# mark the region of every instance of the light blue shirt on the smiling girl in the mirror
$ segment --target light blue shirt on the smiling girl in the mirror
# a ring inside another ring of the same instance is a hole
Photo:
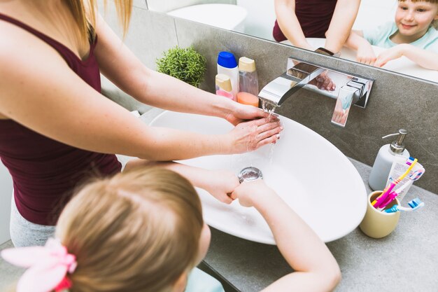
[[[395,22],[390,21],[383,25],[379,25],[379,27],[375,27],[374,29],[365,29],[362,33],[364,39],[369,41],[372,45],[381,48],[392,48],[393,46],[397,46],[397,43],[393,43],[389,38],[397,32],[397,30],[398,28],[397,25],[395,25]],[[438,53],[437,29],[430,26],[428,32],[426,32],[420,39],[412,42],[411,45],[422,48],[423,50],[430,50],[434,53]]]

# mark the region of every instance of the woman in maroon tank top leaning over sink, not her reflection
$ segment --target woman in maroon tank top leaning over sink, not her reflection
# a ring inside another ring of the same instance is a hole
[[[43,245],[77,183],[120,172],[115,153],[180,160],[278,139],[278,120],[254,120],[265,116],[260,109],[146,68],[95,13],[96,2],[0,1],[0,158],[13,178],[15,246]],[[113,3],[126,29],[132,1]],[[148,127],[101,95],[100,73],[145,104],[236,127],[220,137]]]

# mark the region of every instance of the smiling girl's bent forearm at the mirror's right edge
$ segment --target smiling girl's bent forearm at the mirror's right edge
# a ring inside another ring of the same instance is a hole
[[[412,62],[420,65],[425,69],[438,70],[438,54],[430,50],[424,50],[409,43],[401,43],[400,45],[384,50],[374,64],[376,67],[383,67],[390,60],[395,60],[400,57],[407,57]]]

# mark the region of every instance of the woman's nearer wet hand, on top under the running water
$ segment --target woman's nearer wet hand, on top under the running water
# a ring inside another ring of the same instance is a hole
[[[283,130],[278,118],[271,118],[268,122],[265,118],[250,120],[239,123],[227,136],[229,153],[246,153],[254,151],[261,146],[276,143],[280,139],[278,133]]]

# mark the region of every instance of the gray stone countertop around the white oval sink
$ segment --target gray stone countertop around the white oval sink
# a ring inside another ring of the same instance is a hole
[[[161,110],[141,116],[149,123]],[[351,160],[367,187],[371,167]],[[337,292],[438,292],[438,195],[412,186],[404,202],[419,197],[425,207],[404,212],[387,237],[373,239],[359,228],[327,243],[341,267]],[[211,228],[211,245],[205,258],[229,283],[242,292],[260,291],[292,272],[276,246],[250,242]]]

